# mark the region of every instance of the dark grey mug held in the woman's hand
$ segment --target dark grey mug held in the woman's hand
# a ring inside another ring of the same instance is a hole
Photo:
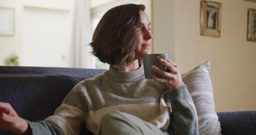
[[[146,79],[152,79],[152,75],[155,75],[158,78],[165,78],[164,76],[156,73],[151,69],[151,66],[156,66],[164,71],[169,72],[170,70],[162,65],[159,60],[157,60],[157,56],[160,56],[164,60],[170,59],[170,54],[145,54],[143,55],[143,65],[144,65],[144,74]]]

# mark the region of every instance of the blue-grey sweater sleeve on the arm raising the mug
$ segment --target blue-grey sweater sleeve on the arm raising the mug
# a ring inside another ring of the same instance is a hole
[[[186,85],[168,94],[172,105],[169,133],[172,135],[199,135],[196,109]]]

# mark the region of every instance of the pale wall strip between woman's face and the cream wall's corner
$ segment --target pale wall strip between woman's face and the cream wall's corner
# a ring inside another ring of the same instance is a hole
[[[173,0],[152,0],[152,52],[170,54],[175,60],[173,9]]]

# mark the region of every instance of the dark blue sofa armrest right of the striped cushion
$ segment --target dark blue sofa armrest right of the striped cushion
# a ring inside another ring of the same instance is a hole
[[[223,135],[254,135],[256,111],[229,111],[217,113]]]

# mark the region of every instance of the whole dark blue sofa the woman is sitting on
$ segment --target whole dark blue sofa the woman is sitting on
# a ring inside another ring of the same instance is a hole
[[[104,70],[61,67],[0,66],[0,102],[18,115],[40,121],[52,115],[76,83]],[[223,135],[256,135],[256,111],[218,112]],[[91,135],[83,126],[81,135]],[[0,135],[11,135],[0,129]]]

